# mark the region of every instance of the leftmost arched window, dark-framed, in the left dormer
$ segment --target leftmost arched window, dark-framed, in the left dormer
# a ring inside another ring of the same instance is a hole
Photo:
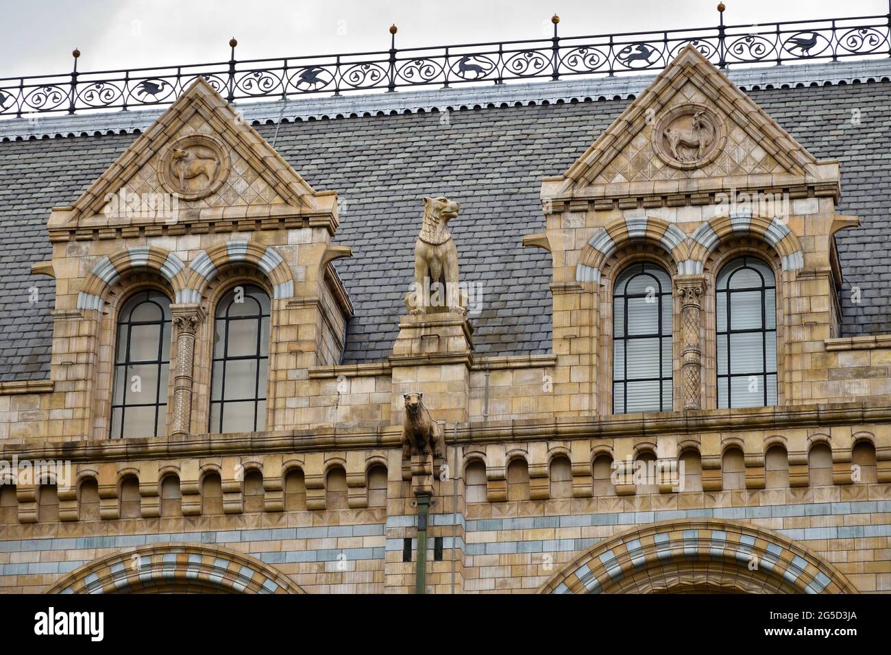
[[[165,433],[169,367],[170,299],[159,291],[140,291],[118,316],[112,438]]]

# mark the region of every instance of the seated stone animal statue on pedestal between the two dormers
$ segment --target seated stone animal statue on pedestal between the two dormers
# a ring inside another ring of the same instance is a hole
[[[448,230],[458,209],[461,205],[442,196],[424,198],[424,220],[414,242],[414,289],[405,296],[405,307],[413,315],[427,312],[429,291],[436,296],[437,284],[445,291],[448,311],[467,313],[467,292],[458,287],[458,249]]]

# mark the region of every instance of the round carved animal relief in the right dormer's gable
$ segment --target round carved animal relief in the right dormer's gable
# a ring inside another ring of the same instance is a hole
[[[704,105],[685,104],[656,122],[653,145],[660,160],[674,168],[699,168],[723,148],[723,122]]]

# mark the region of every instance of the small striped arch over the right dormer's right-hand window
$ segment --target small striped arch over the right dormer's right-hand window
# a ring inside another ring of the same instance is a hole
[[[748,210],[732,211],[699,225],[691,234],[690,273],[702,273],[703,266],[718,243],[736,236],[754,236],[770,244],[782,260],[784,271],[797,271],[805,266],[805,256],[798,237],[779,218],[753,215]]]

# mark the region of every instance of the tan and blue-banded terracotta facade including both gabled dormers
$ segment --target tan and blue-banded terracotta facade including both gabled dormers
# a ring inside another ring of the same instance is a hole
[[[172,214],[116,200],[165,193]],[[523,244],[552,257],[549,354],[479,356],[458,303],[410,306],[388,358],[340,364],[331,262],[358,244],[335,244],[336,193],[199,79],[49,217],[52,374],[2,383],[0,461],[70,469],[0,471],[0,590],[413,593],[429,494],[429,593],[889,592],[891,338],[840,333],[839,194],[837,162],[687,48],[543,181]],[[728,409],[715,287],[743,255],[776,281],[777,394]],[[672,278],[672,410],[614,413],[613,287],[640,262]],[[239,285],[271,301],[264,429],[216,434]],[[166,420],[111,438],[119,313],[145,290],[171,301]],[[405,394],[444,452],[404,450]]]

